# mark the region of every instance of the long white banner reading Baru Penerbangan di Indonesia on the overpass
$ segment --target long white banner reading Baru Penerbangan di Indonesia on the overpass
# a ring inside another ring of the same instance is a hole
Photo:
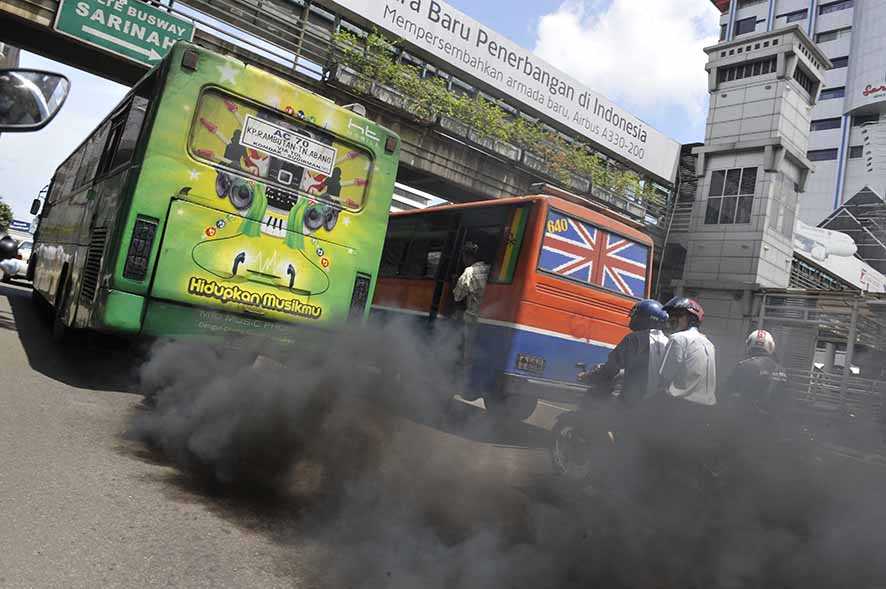
[[[336,0],[475,80],[673,182],[680,145],[549,63],[439,0]]]

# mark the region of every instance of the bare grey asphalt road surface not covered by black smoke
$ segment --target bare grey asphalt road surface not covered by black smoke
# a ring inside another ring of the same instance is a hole
[[[100,337],[56,345],[30,289],[13,284],[0,285],[0,350],[0,586],[322,584],[312,555],[329,547],[303,533],[304,505],[208,493],[126,439],[143,410],[132,346]],[[547,476],[544,427],[557,406],[496,435],[480,408],[463,411],[476,427],[397,427],[503,489]],[[522,500],[508,493],[494,509]]]

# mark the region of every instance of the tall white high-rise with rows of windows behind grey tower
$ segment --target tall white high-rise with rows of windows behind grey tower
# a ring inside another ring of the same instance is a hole
[[[886,194],[886,0],[712,0],[721,41],[799,26],[830,61],[810,114],[799,219],[818,225],[866,187]]]

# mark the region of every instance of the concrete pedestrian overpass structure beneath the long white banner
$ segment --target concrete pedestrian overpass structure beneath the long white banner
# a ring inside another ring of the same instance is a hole
[[[402,184],[455,202],[528,194],[533,184],[555,184],[647,226],[657,241],[664,237],[667,186],[660,186],[658,198],[650,202],[592,187],[588,179],[577,176],[564,182],[562,175],[548,168],[545,158],[489,139],[460,121],[447,117],[416,120],[408,102],[395,89],[360,80],[359,73],[340,66],[334,33],[340,28],[365,31],[337,13],[334,6],[326,0],[0,0],[0,29],[4,42],[11,45],[131,85],[147,71],[146,63],[159,55],[153,48],[126,41],[125,35],[114,39],[114,27],[121,33],[132,33],[131,27],[145,23],[115,21],[109,14],[115,8],[124,15],[153,11],[155,22],[161,19],[191,25],[193,41],[201,46],[273,71],[339,104],[363,103],[370,118],[396,130],[402,138],[398,173]],[[89,32],[83,33],[85,39],[59,31],[70,26],[71,19],[77,26],[81,11],[80,29]],[[144,36],[141,29],[135,32]],[[158,44],[168,42],[165,29],[155,27],[154,32]],[[188,35],[190,31],[186,31]],[[444,75],[429,63],[420,65],[428,75]],[[459,81],[451,76],[448,83]],[[459,90],[464,90],[464,85],[462,82]],[[513,110],[501,100],[498,103]]]

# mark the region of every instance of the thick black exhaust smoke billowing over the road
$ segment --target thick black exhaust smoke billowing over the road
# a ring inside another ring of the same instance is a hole
[[[456,355],[453,334],[394,323],[286,352],[164,343],[141,371],[156,408],[131,431],[226,487],[333,499],[298,516],[313,586],[886,586],[876,467],[771,444],[747,416],[705,437],[697,413],[637,411],[626,450],[598,456],[618,476],[576,488],[543,449],[496,443],[530,426],[453,423]]]

